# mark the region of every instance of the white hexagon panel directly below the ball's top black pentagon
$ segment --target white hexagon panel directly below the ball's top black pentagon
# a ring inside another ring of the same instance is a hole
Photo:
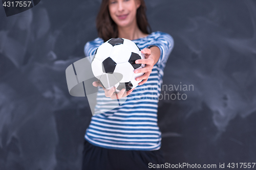
[[[120,44],[113,47],[110,56],[116,63],[124,63],[130,59],[131,54],[131,51],[126,46]]]

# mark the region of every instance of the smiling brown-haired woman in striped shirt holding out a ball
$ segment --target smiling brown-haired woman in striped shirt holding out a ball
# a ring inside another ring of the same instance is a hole
[[[144,72],[135,89],[118,93],[125,103],[92,117],[87,129],[82,169],[148,169],[152,164],[164,164],[161,132],[157,125],[158,96],[163,69],[173,49],[173,38],[163,32],[150,33],[143,0],[102,0],[96,19],[99,37],[84,46],[86,56],[111,38],[126,38],[135,42],[145,55]],[[94,82],[94,86],[101,86]],[[108,99],[115,99],[114,88],[104,89]],[[134,96],[143,96],[134,98]],[[151,168],[152,169],[152,168]]]

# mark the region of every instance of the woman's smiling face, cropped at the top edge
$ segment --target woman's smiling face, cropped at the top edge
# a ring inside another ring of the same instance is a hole
[[[110,16],[118,27],[129,27],[136,23],[136,12],[140,7],[139,0],[110,0]]]

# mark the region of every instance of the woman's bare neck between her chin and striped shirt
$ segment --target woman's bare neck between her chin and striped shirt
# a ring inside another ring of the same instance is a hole
[[[133,24],[127,27],[118,27],[118,37],[125,38],[125,39],[138,39],[145,37],[146,34],[142,33],[138,28],[137,24]]]

